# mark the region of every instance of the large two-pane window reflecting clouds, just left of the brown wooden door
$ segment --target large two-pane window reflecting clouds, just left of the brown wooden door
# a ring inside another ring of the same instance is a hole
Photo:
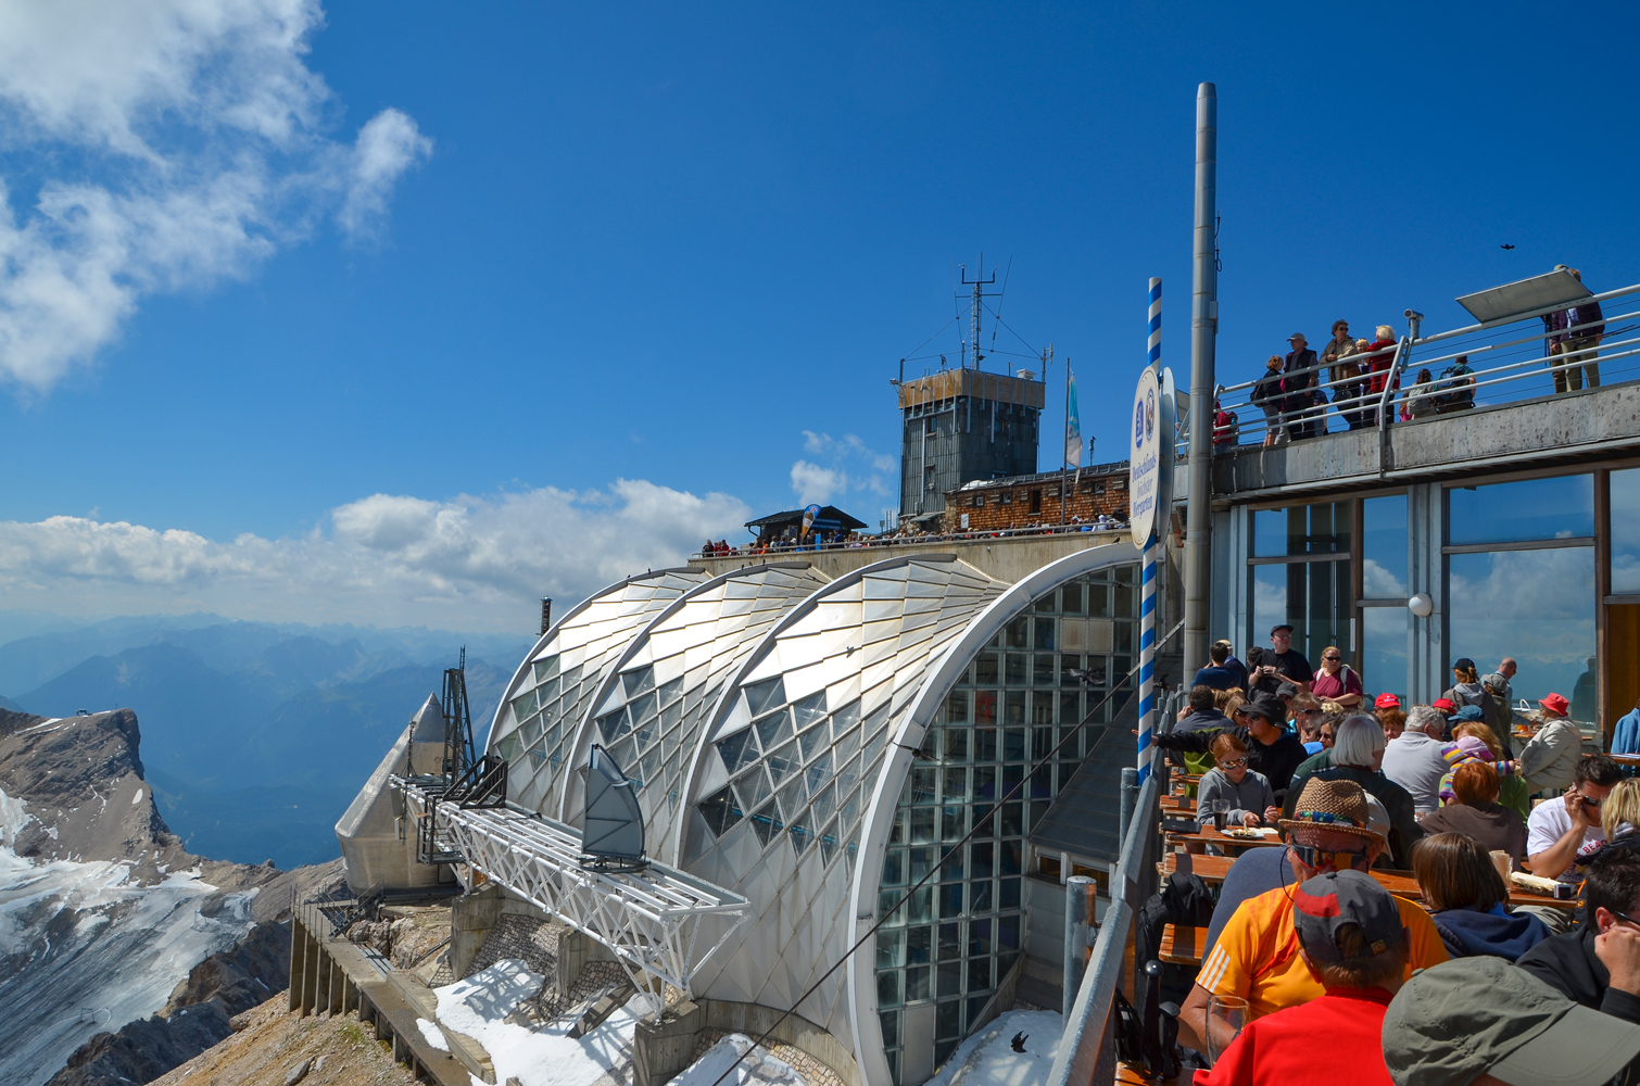
[[[1446,659],[1514,656],[1517,699],[1555,692],[1596,717],[1594,476],[1446,491]],[[1450,676],[1448,676],[1450,678]],[[1627,709],[1627,707],[1625,707]]]

